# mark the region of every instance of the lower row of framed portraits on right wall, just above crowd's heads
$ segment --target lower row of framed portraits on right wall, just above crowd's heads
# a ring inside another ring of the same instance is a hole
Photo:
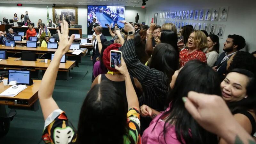
[[[226,25],[225,24],[209,24],[209,23],[196,23],[196,22],[185,22],[185,21],[175,21],[175,20],[160,20],[160,25],[164,23],[173,23],[177,30],[186,25],[191,25],[195,30],[205,30],[208,34],[214,34],[223,38]]]

